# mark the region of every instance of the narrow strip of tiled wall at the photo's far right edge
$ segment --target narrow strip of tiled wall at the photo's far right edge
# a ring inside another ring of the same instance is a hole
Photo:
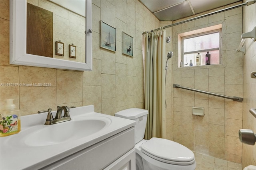
[[[246,1],[244,1],[246,2]],[[256,26],[256,4],[243,7],[243,32],[250,32]],[[256,118],[249,110],[256,106],[256,79],[250,77],[251,71],[256,71],[256,42],[251,39],[245,41],[246,53],[244,55],[243,80],[243,128],[252,129],[256,133]],[[236,115],[238,116],[238,115]],[[256,165],[256,147],[242,144],[242,166]]]

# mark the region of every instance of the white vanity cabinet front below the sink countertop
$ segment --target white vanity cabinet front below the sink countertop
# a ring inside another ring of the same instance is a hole
[[[42,170],[135,170],[134,141],[134,127],[131,127]]]

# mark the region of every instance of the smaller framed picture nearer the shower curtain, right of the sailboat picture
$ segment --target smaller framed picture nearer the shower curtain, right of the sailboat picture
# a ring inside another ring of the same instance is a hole
[[[133,37],[122,32],[122,53],[133,57]]]

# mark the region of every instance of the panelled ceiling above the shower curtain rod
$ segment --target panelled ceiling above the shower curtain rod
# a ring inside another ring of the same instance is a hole
[[[242,0],[140,0],[160,21],[174,21]]]

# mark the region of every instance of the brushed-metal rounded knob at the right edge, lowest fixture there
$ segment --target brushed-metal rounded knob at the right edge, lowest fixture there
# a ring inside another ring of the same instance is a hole
[[[254,145],[256,142],[256,134],[250,129],[240,129],[239,139],[242,143]]]

